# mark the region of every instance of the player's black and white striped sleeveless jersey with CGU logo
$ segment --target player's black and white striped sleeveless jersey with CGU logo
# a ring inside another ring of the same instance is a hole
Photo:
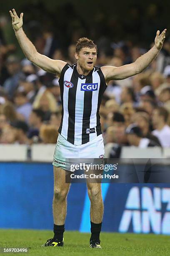
[[[60,79],[62,118],[58,132],[74,145],[85,144],[102,133],[99,108],[107,87],[100,67],[80,75],[77,64],[66,64]]]

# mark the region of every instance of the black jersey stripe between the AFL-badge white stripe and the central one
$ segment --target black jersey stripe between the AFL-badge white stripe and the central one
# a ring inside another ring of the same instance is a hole
[[[74,144],[75,141],[75,100],[78,76],[76,76],[76,66],[73,67],[72,77],[70,82],[73,83],[73,87],[69,88],[68,92],[68,132],[67,141]],[[74,113],[73,113],[74,112]],[[72,117],[72,118],[71,118]]]

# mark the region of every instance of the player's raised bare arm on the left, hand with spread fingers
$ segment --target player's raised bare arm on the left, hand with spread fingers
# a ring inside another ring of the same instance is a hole
[[[13,9],[13,12],[10,10],[10,15],[12,18],[12,25],[15,31],[15,35],[27,59],[47,72],[60,75],[61,70],[65,66],[66,62],[62,60],[50,59],[47,56],[38,53],[35,46],[23,31],[23,13],[20,14],[19,18],[15,9]]]

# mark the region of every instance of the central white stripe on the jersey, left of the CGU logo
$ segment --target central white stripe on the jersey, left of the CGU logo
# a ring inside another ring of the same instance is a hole
[[[82,118],[84,109],[84,95],[81,91],[81,83],[85,83],[86,79],[78,78],[76,99],[75,99],[75,145],[82,144]]]

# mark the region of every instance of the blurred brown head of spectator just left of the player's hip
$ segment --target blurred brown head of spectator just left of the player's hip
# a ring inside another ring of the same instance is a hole
[[[57,141],[58,132],[53,125],[43,124],[40,128],[40,138],[42,143],[53,143]]]

